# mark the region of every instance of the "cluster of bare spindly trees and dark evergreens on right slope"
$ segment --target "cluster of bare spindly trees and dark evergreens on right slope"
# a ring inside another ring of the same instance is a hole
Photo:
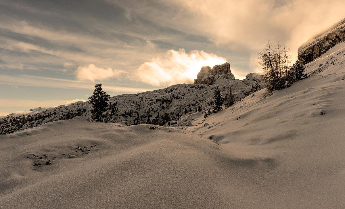
[[[292,65],[288,53],[289,49],[285,45],[273,44],[270,40],[267,41],[266,48],[258,53],[260,67],[266,73],[264,79],[268,92],[287,88],[306,78],[304,67],[298,61]]]

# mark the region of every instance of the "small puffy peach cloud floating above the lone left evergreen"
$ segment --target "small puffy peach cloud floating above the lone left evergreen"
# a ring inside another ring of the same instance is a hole
[[[75,73],[78,80],[95,81],[114,78],[123,73],[123,71],[115,71],[111,68],[98,68],[94,64],[89,64],[89,66],[79,66]]]

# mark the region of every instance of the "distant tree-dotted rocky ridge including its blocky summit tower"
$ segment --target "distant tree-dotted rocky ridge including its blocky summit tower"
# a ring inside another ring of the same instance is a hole
[[[147,119],[162,121],[161,117],[167,113],[170,124],[187,125],[184,124],[185,119],[183,118],[196,113],[199,106],[203,114],[209,109],[213,109],[213,94],[216,87],[221,90],[224,100],[231,88],[236,101],[265,88],[262,76],[258,73],[249,73],[243,80],[235,79],[230,71],[229,63],[216,65],[212,69],[208,66],[202,67],[198,73],[197,82],[198,79],[201,82],[207,81],[207,84],[177,84],[154,91],[111,97],[110,102],[117,103],[118,111],[110,121],[127,121],[129,125],[144,124]],[[209,81],[212,81],[213,84],[210,84]],[[51,121],[71,119],[82,115],[90,117],[90,110],[91,105],[88,102],[78,101],[69,106],[61,105],[50,108],[35,115],[7,116],[0,119],[0,126],[4,127],[4,133],[11,133]]]

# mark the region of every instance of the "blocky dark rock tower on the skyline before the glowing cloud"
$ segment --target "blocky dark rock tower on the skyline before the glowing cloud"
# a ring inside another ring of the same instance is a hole
[[[213,68],[209,66],[201,67],[197,78],[194,80],[194,84],[212,85],[217,79],[221,78],[235,80],[235,76],[231,73],[230,64],[228,62],[215,65]]]

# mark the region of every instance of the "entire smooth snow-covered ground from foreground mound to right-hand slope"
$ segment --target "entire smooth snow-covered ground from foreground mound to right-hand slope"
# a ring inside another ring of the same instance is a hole
[[[1,135],[0,208],[344,208],[336,47],[306,66],[337,60],[318,74],[185,127],[81,116]]]

